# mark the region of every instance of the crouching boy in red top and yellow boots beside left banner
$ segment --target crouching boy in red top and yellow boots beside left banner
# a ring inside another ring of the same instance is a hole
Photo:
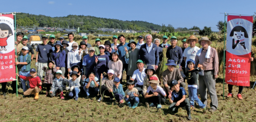
[[[39,92],[42,90],[42,83],[41,83],[41,80],[40,78],[36,75],[37,74],[37,71],[35,70],[35,68],[32,68],[30,69],[29,71],[30,75],[29,77],[26,77],[26,76],[22,76],[22,75],[19,75],[19,74],[16,74],[18,77],[24,79],[24,80],[28,80],[29,81],[29,86],[30,88],[27,89],[23,94],[24,96],[26,95],[35,95],[35,98],[34,99],[38,99],[38,94]]]

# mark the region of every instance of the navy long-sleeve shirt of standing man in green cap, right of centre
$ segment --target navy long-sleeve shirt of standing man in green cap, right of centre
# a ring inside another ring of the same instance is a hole
[[[182,56],[183,53],[181,47],[178,47],[176,45],[174,48],[172,48],[172,46],[167,48],[166,57],[168,58],[168,60],[174,60],[177,65],[181,64]]]

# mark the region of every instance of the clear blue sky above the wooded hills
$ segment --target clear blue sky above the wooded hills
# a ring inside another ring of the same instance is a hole
[[[9,5],[8,5],[9,4]],[[224,14],[253,15],[256,0],[2,0],[0,12],[24,12],[50,17],[90,15],[139,20],[177,27],[204,26],[218,31]],[[17,14],[18,16],[18,14]]]

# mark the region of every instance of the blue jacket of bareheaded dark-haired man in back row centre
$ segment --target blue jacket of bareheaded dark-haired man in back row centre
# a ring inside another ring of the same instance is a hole
[[[122,61],[123,64],[128,64],[128,60],[125,57],[125,47],[127,48],[127,50],[129,50],[131,47],[128,47],[128,43],[125,42],[125,45],[119,44],[117,45],[117,54],[119,55],[119,59]]]

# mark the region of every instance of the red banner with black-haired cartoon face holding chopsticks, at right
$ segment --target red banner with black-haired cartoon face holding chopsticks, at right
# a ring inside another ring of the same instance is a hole
[[[236,86],[250,86],[253,17],[229,15],[227,20],[225,81]]]

